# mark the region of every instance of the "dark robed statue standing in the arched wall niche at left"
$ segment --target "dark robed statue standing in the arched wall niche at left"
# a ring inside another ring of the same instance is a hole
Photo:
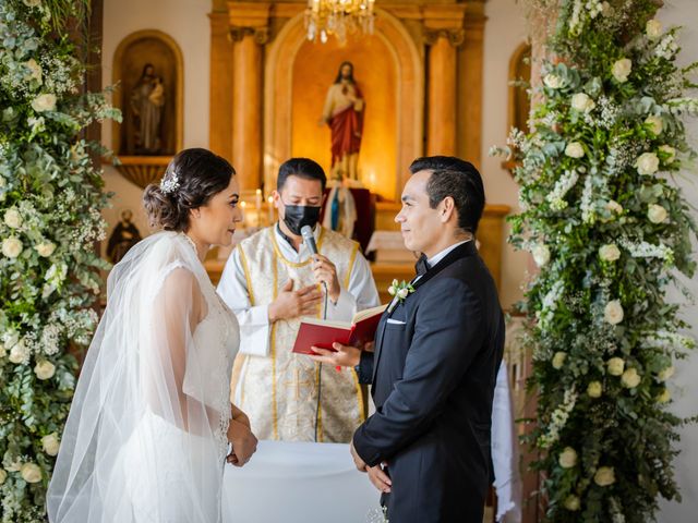
[[[137,155],[155,155],[163,147],[160,119],[165,106],[165,85],[155,75],[155,68],[146,63],[143,74],[131,92],[131,111],[135,127],[134,149]]]

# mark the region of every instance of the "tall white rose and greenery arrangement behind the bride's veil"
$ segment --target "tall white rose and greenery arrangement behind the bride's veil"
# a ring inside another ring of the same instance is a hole
[[[104,153],[81,137],[118,119],[82,92],[71,0],[0,0],[0,520],[46,521],[45,497],[100,292]]]

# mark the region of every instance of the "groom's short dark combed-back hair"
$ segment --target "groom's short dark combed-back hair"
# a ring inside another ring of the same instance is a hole
[[[484,186],[478,169],[454,156],[425,156],[410,166],[410,172],[431,171],[426,182],[429,206],[435,209],[446,197],[454,198],[458,227],[476,233],[484,210]]]

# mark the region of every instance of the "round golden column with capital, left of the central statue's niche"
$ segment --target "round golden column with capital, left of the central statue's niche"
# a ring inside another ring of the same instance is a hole
[[[262,46],[269,4],[229,2],[232,63],[232,165],[242,191],[262,185]]]

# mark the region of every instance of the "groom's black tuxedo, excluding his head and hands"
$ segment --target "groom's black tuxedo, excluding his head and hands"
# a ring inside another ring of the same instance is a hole
[[[474,242],[459,245],[381,318],[360,380],[376,413],[353,445],[387,462],[390,523],[480,523],[491,483],[492,398],[504,317]]]

